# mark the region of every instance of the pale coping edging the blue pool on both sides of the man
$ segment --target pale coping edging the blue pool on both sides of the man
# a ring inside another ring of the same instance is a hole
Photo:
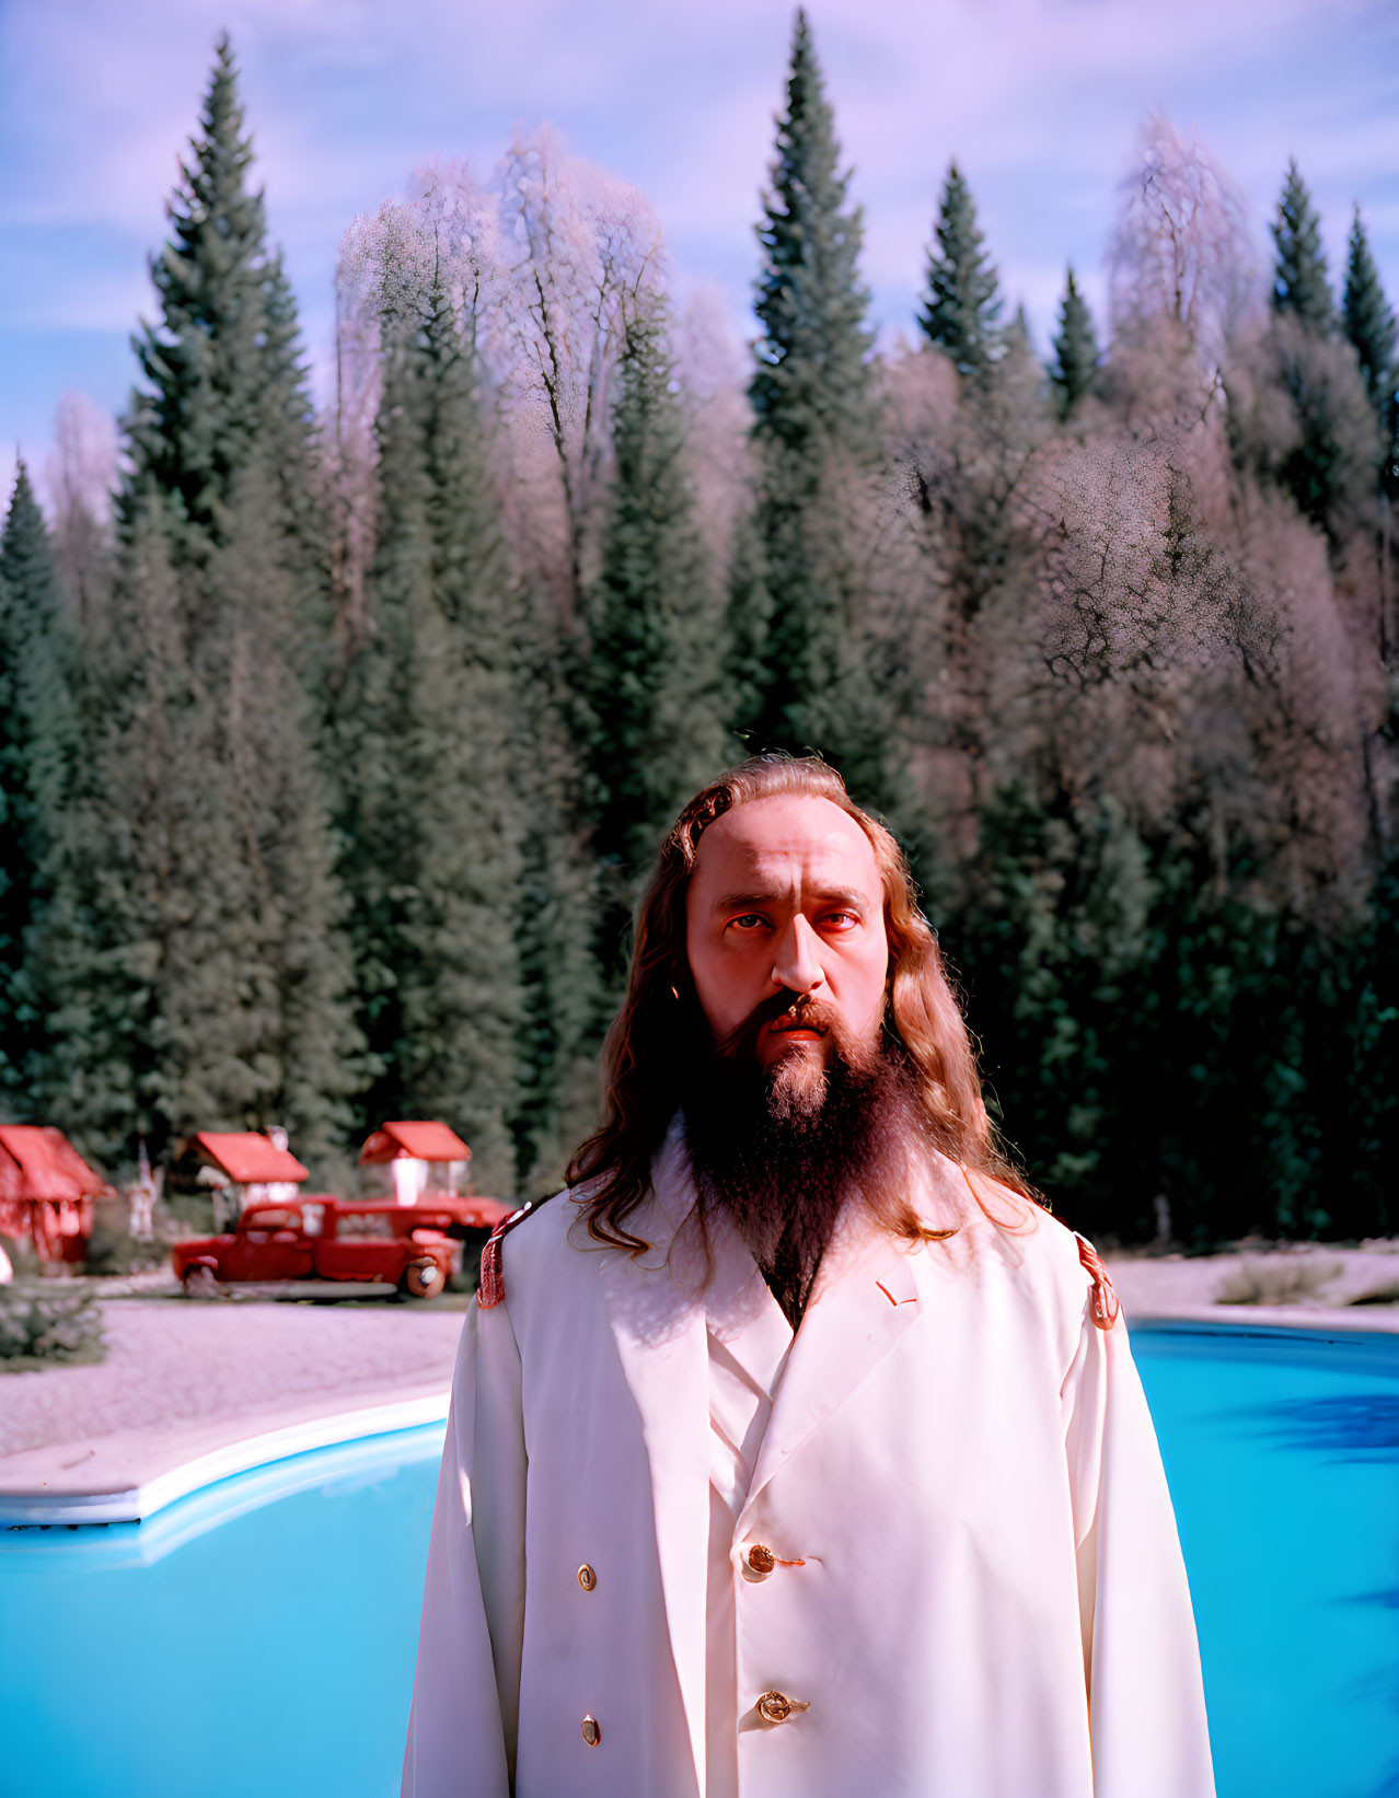
[[[1399,1334],[1381,1307],[1138,1304],[1129,1331],[1183,1325],[1212,1331]],[[311,1449],[439,1424],[450,1386],[441,1379],[367,1392],[327,1392],[297,1406],[167,1429],[122,1429],[0,1456],[0,1528],[7,1525],[140,1523],[167,1505]]]

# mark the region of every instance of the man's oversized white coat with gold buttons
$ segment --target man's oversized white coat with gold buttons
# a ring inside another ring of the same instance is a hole
[[[771,1300],[735,1237],[707,1291],[682,1244],[667,1266],[682,1169],[673,1131],[640,1260],[575,1246],[561,1196],[466,1320],[405,1798],[705,1798],[708,1331]],[[1092,1322],[1048,1214],[922,1208],[958,1233],[827,1251],[735,1518],[739,1793],[1210,1798],[1126,1327]],[[755,1579],[753,1544],[800,1564]],[[755,1708],[773,1692],[786,1721]]]

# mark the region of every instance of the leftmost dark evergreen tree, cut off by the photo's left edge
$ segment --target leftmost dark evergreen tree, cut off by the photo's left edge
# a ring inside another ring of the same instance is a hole
[[[0,1111],[27,1117],[49,1045],[34,933],[54,903],[79,761],[76,640],[49,527],[20,460],[0,538]]]

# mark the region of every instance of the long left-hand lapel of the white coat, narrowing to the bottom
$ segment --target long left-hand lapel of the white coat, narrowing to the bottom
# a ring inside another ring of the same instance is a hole
[[[673,1147],[667,1142],[667,1147]],[[602,1255],[601,1280],[651,1464],[660,1584],[680,1697],[694,1753],[696,1793],[705,1789],[705,1600],[708,1579],[708,1340],[705,1300],[694,1268],[680,1253],[667,1264],[689,1199],[667,1151],[656,1162],[656,1190],[629,1228],[651,1242],[637,1260],[624,1250]]]

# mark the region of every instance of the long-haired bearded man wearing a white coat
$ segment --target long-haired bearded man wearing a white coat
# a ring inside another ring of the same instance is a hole
[[[825,764],[680,814],[606,1070],[462,1332],[405,1794],[1208,1798],[1111,1287]]]

